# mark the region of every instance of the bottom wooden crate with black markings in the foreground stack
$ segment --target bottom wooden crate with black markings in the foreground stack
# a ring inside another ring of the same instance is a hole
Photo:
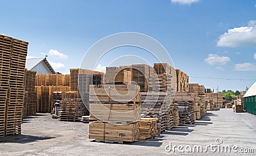
[[[140,137],[139,123],[132,124],[108,124],[103,122],[89,123],[89,139],[104,142],[136,141]]]

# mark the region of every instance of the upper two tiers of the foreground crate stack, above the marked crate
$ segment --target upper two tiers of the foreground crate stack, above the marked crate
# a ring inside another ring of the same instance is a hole
[[[138,85],[90,85],[90,117],[104,122],[140,120]]]

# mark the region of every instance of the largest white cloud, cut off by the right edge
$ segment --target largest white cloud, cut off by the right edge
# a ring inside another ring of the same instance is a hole
[[[217,46],[256,46],[256,20],[248,22],[246,27],[234,27],[221,34]]]

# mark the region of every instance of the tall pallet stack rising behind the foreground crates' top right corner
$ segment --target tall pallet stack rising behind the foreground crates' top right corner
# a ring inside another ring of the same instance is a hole
[[[132,64],[132,82],[140,86],[140,92],[148,91],[148,78],[150,76],[150,66],[147,64]]]

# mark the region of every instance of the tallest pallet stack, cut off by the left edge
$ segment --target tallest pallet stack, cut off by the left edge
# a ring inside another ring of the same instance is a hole
[[[0,136],[20,134],[28,42],[0,35]]]

